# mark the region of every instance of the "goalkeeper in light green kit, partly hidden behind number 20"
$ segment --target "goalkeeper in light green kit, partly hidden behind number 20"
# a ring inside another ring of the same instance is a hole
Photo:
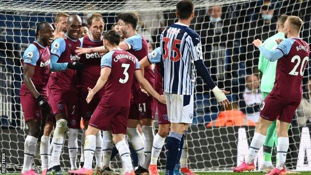
[[[288,15],[286,14],[279,16],[279,19],[277,21],[278,33],[265,40],[265,42],[263,43],[265,48],[269,50],[274,50],[278,45],[277,40],[285,39],[285,33],[283,28],[287,16]],[[277,61],[271,62],[268,59],[264,58],[262,53],[260,53],[258,69],[262,74],[260,89],[264,99],[272,91],[272,88],[274,86],[276,68]],[[271,161],[271,156],[274,144],[276,147],[278,145],[278,136],[276,134],[276,121],[277,120],[272,122],[270,127],[268,128],[266,141],[264,143],[264,164],[260,168],[260,170],[264,173],[270,173],[270,171],[274,169]]]

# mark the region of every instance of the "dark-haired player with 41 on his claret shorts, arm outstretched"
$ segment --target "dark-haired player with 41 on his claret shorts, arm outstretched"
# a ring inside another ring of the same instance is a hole
[[[143,59],[148,54],[148,43],[144,37],[136,31],[136,27],[138,25],[137,16],[134,13],[120,13],[118,14],[118,18],[118,30],[121,37],[126,38],[120,43],[120,48],[122,50],[128,50],[139,60]],[[104,52],[104,50],[104,47],[78,48],[76,52],[78,54],[82,54],[94,51]],[[151,66],[146,67],[144,76],[152,85],[154,85],[155,75],[151,69]],[[155,135],[154,128],[152,126],[153,116],[151,108],[153,98],[141,91],[141,88],[136,80],[134,80],[133,83],[132,94],[133,98],[131,99],[127,134],[139,157],[139,168],[135,171],[135,173],[145,174],[148,173],[146,169],[148,169],[151,161],[151,151]],[[145,140],[138,131],[138,123],[142,126],[142,130],[146,138]],[[142,143],[144,143],[144,145]],[[145,161],[145,154],[147,161]]]

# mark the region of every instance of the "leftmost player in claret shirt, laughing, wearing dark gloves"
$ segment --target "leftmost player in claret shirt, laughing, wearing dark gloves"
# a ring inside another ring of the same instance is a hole
[[[24,162],[21,175],[37,175],[31,169],[41,127],[51,114],[47,102],[46,84],[50,74],[50,48],[54,29],[48,22],[37,25],[36,40],[29,44],[23,55],[24,81],[20,87],[20,101],[26,125],[29,128],[24,143]]]

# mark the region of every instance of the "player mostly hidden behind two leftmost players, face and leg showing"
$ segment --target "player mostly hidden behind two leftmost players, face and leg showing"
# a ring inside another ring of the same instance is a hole
[[[67,31],[67,19],[69,14],[64,12],[58,12],[54,17],[54,39],[66,38],[64,32]],[[43,136],[40,143],[40,157],[41,157],[41,169],[42,172],[47,171],[48,163],[51,157],[52,147],[50,147],[50,135],[55,124],[54,116],[48,117],[44,126]]]

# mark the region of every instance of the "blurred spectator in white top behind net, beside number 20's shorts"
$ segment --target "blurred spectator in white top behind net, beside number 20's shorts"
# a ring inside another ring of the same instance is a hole
[[[260,105],[263,97],[259,90],[259,79],[257,75],[249,75],[246,77],[246,88],[240,93],[240,108],[246,114],[248,120],[257,122],[259,119]]]

